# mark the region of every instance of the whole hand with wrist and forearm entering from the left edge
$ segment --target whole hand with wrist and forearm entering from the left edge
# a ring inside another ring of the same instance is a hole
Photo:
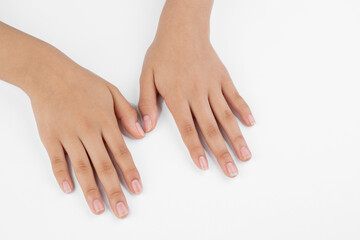
[[[100,214],[105,209],[97,175],[113,212],[119,218],[125,217],[129,208],[115,165],[131,192],[140,193],[142,183],[118,119],[135,138],[144,137],[144,131],[135,109],[119,90],[56,48],[1,22],[0,79],[28,94],[62,190],[70,193],[74,188],[68,155],[92,212]]]

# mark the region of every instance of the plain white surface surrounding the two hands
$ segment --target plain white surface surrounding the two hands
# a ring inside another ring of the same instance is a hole
[[[43,39],[137,104],[163,0],[0,0],[0,21]],[[30,102],[0,82],[0,239],[360,239],[360,1],[217,0],[212,42],[257,120],[253,159],[197,170],[168,109],[126,139],[144,192],[127,219],[63,194]],[[76,91],[74,91],[76,94]]]

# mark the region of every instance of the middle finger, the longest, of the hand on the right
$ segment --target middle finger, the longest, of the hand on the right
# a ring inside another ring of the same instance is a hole
[[[232,159],[220,129],[216,123],[209,102],[204,100],[191,106],[193,113],[209,148],[214,153],[220,167],[228,177],[238,175],[238,169]]]

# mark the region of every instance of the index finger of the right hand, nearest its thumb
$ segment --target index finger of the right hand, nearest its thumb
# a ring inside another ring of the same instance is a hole
[[[202,170],[206,170],[208,169],[208,160],[206,159],[204,148],[201,145],[198,132],[195,128],[190,107],[185,101],[178,102],[179,104],[168,104],[169,109],[174,116],[181,137],[195,165]]]

